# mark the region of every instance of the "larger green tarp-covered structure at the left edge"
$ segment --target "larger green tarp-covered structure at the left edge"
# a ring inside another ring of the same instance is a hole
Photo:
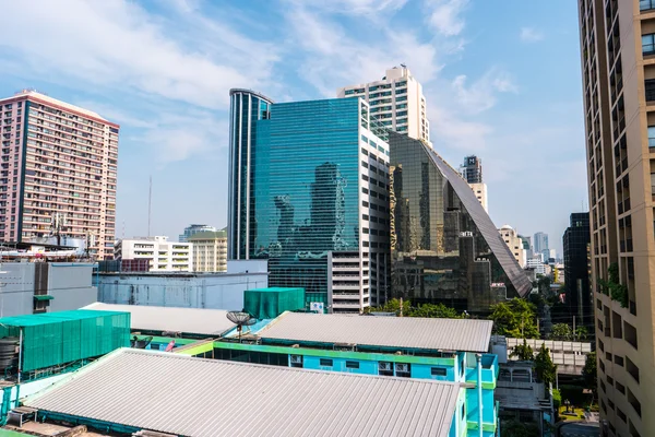
[[[23,331],[23,371],[130,346],[130,314],[78,309],[0,318],[0,338]]]

